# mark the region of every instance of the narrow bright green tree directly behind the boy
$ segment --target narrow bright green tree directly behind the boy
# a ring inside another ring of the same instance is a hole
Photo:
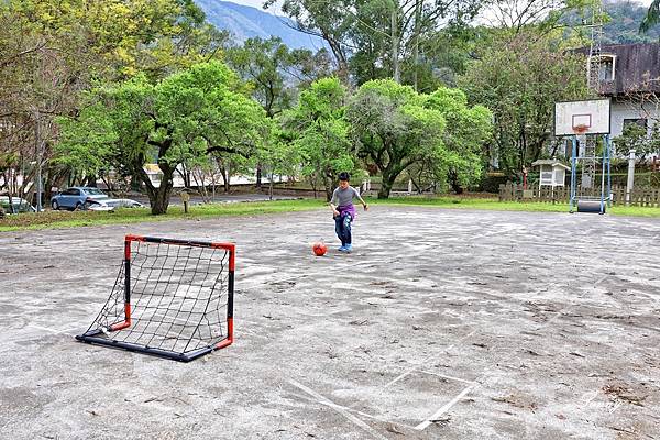
[[[298,151],[302,175],[322,183],[328,201],[337,175],[355,167],[344,117],[345,99],[346,90],[338,78],[319,79],[300,94],[298,106],[283,117],[284,136]]]

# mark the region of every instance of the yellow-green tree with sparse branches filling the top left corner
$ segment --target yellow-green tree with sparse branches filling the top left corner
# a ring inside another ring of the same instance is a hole
[[[0,123],[11,131],[8,148],[19,152],[19,163],[43,167],[47,197],[70,176],[53,161],[54,119],[76,114],[82,90],[138,73],[161,79],[216,57],[224,38],[193,0],[0,2]]]

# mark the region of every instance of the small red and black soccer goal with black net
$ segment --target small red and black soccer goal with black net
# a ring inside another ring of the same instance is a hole
[[[193,361],[233,342],[235,248],[127,235],[112,293],[76,339]]]

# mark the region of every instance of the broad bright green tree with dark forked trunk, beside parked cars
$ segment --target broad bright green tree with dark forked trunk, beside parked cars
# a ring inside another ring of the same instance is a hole
[[[268,120],[242,90],[235,74],[219,62],[155,85],[136,77],[100,88],[88,94],[78,118],[61,121],[63,161],[72,166],[94,166],[94,156],[108,161],[144,184],[152,213],[165,213],[179,164],[216,152],[249,157],[260,147]],[[90,132],[98,134],[85,135]],[[160,186],[144,170],[148,162],[163,173]]]

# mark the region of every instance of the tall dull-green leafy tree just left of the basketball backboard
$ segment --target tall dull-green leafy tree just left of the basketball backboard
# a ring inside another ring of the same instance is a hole
[[[527,32],[498,35],[470,64],[459,85],[470,102],[493,112],[488,156],[503,170],[514,176],[541,156],[551,139],[554,102],[588,96],[584,66],[583,55]]]

